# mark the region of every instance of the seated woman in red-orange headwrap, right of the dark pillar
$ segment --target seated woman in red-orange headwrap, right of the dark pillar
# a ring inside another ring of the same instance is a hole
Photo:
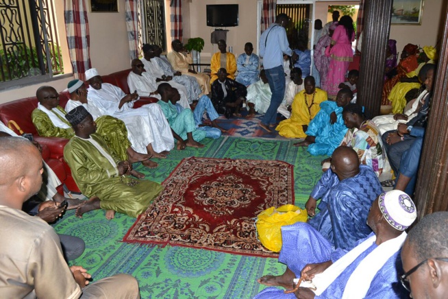
[[[397,84],[401,78],[405,77],[407,73],[410,73],[419,67],[419,63],[417,62],[417,53],[419,53],[419,46],[417,45],[408,44],[403,48],[403,52],[400,56],[401,59],[397,66],[397,75],[384,83],[381,99],[382,105],[391,104],[388,96],[395,84]]]

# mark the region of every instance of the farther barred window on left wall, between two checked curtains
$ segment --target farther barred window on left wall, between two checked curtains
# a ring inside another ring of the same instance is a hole
[[[166,51],[164,0],[143,0],[140,9],[142,42],[158,45]]]

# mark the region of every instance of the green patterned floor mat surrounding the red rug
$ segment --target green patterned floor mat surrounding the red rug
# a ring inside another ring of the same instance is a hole
[[[295,165],[296,204],[303,208],[321,177],[320,163],[325,157],[311,156],[306,148],[293,147],[294,142],[229,136],[207,138],[201,149],[173,150],[168,158],[157,159],[160,166],[156,169],[142,165],[136,169],[151,180],[162,182],[182,158],[189,156],[284,160]],[[132,274],[138,279],[142,298],[253,298],[264,289],[257,278],[280,275],[285,270],[277,259],[121,243],[135,219],[117,213],[115,219],[108,221],[104,213],[93,211],[78,219],[73,211],[68,211],[55,229],[86,241],[86,251],[73,265],[84,266],[94,280],[120,272]]]

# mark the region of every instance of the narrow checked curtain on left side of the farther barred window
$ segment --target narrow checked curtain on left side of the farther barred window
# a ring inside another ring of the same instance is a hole
[[[138,12],[140,0],[126,0],[125,3],[125,18],[127,27],[127,40],[129,42],[129,58],[131,60],[139,57],[140,47],[138,34]]]

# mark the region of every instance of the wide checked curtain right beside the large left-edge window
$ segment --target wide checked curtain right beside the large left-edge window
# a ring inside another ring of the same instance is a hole
[[[90,35],[84,0],[65,0],[64,19],[73,75],[85,80],[90,63]]]

